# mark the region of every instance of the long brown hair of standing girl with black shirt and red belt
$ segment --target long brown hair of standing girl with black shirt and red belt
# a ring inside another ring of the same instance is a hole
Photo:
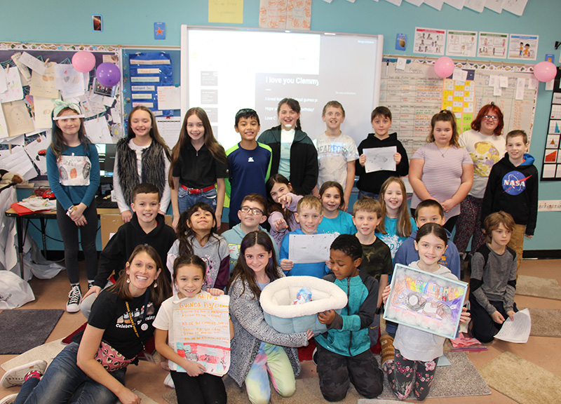
[[[191,142],[191,137],[187,133],[187,119],[189,116],[196,115],[198,119],[203,122],[203,128],[205,129],[205,146],[212,154],[212,158],[221,161],[224,164],[228,163],[228,158],[226,152],[224,152],[224,147],[222,147],[219,142],[217,142],[214,133],[212,133],[212,126],[210,126],[210,119],[205,110],[201,107],[189,108],[185,113],[183,124],[181,126],[180,138],[171,151],[171,163],[170,163],[170,173],[168,175],[168,182],[171,189],[173,189],[173,168],[177,161],[179,161],[181,156],[181,151],[184,149],[187,142]]]

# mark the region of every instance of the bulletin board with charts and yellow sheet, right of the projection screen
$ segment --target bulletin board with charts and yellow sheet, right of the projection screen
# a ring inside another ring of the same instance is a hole
[[[532,138],[538,81],[524,65],[489,65],[485,63],[458,63],[457,68],[468,72],[465,82],[441,79],[433,69],[433,60],[408,59],[405,68],[396,69],[396,58],[385,57],[381,72],[379,105],[391,110],[392,127],[408,156],[426,144],[431,132],[431,118],[447,108],[445,94],[453,93],[454,112],[459,119],[459,132],[469,128],[471,120],[483,105],[494,102],[504,115],[503,133],[522,129]],[[504,76],[506,87],[500,95],[489,83]],[[523,79],[523,80],[519,80]],[[518,90],[518,94],[517,94]],[[517,99],[522,98],[522,99]]]

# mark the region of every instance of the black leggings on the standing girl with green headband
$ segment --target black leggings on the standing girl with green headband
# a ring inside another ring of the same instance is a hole
[[[62,241],[65,244],[65,264],[70,283],[79,283],[80,276],[78,271],[78,232],[82,243],[83,255],[86,260],[86,274],[88,279],[93,279],[97,275],[97,209],[95,199],[90,206],[83,211],[88,224],[76,226],[74,220],[66,215],[65,208],[57,202],[57,222]]]

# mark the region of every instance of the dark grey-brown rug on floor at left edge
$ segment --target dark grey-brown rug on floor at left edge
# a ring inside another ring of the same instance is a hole
[[[64,312],[61,309],[2,311],[0,355],[22,354],[43,344]]]

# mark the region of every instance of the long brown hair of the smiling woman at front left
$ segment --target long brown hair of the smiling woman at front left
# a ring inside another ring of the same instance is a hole
[[[147,253],[151,260],[156,264],[156,267],[158,269],[161,269],[157,282],[154,281],[148,287],[148,290],[150,291],[150,302],[152,302],[155,307],[159,307],[165,299],[171,296],[171,288],[168,277],[162,274],[162,271],[165,268],[162,265],[160,255],[158,254],[156,249],[148,244],[137,245],[133,250],[133,253],[131,253],[130,257],[128,258],[128,264],[133,262],[135,257],[140,253]],[[130,300],[133,299],[133,295],[131,295],[130,291],[128,290],[127,278],[128,276],[126,274],[126,268],[121,269],[121,271],[119,272],[119,279],[117,279],[116,283],[107,290],[111,293],[114,293],[115,295],[118,295],[121,299],[130,302]],[[158,283],[158,286],[155,287],[154,283]]]

